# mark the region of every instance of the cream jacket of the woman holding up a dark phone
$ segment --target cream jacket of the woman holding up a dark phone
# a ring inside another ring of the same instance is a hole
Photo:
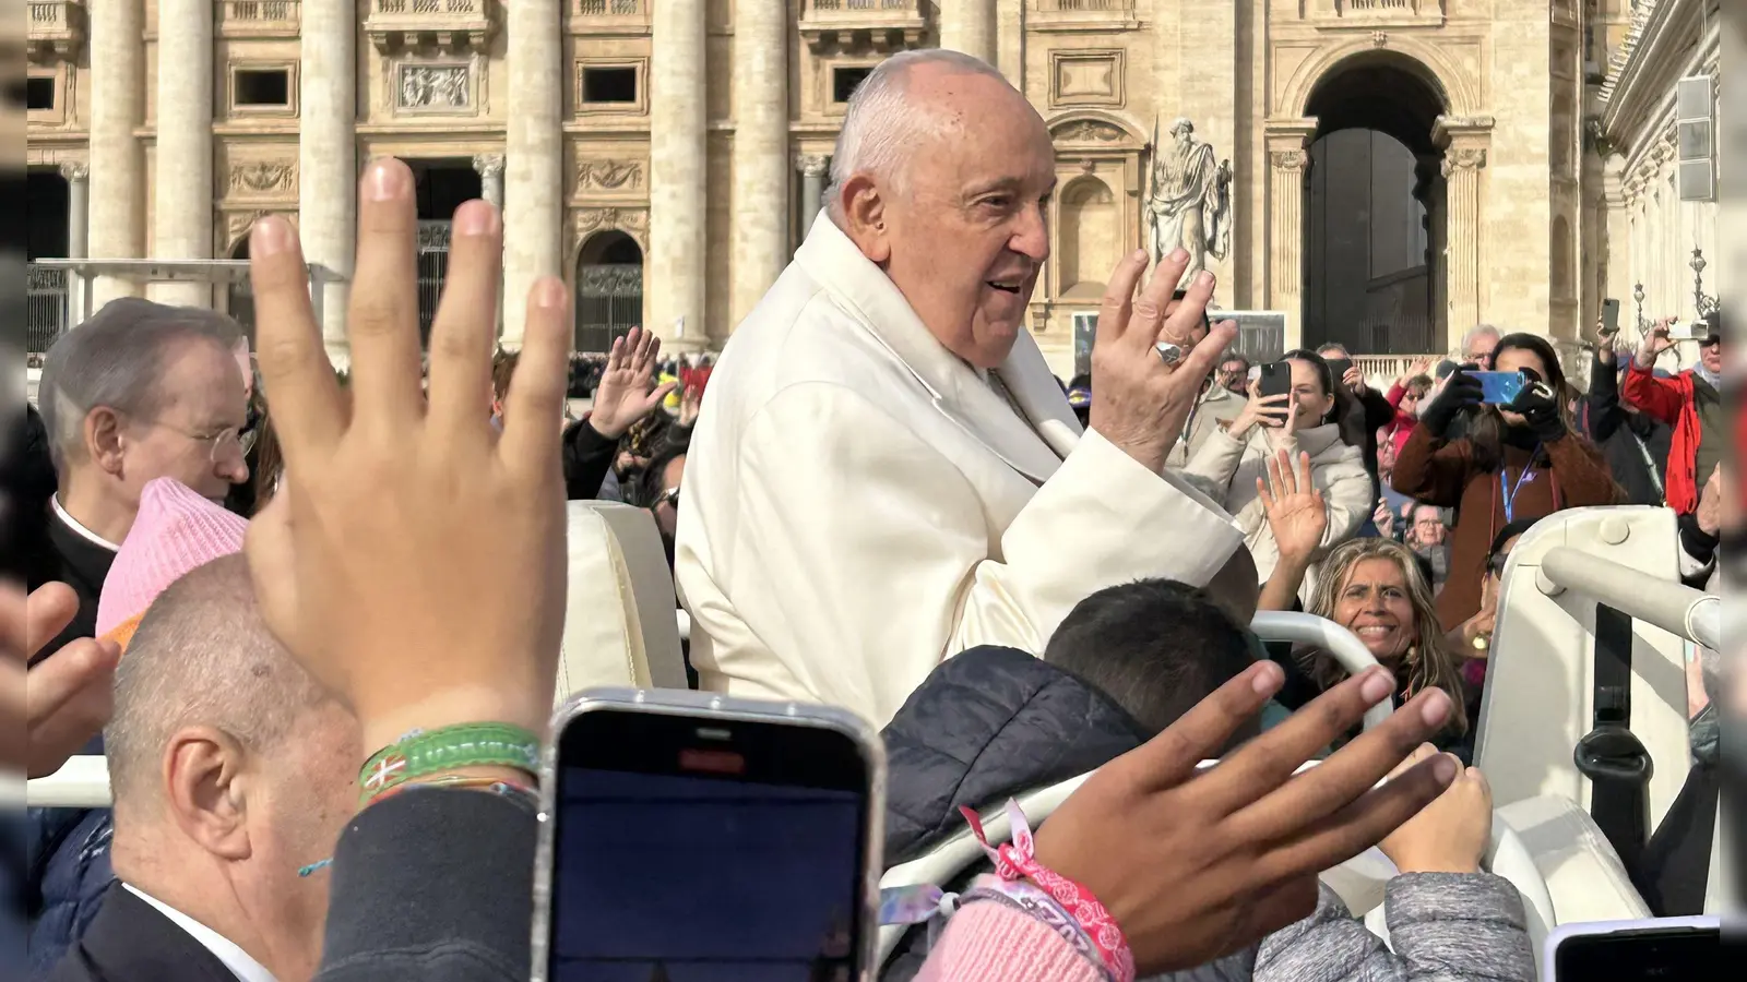
[[[1286,449],[1295,461],[1300,453],[1310,454],[1310,481],[1322,489],[1328,505],[1322,552],[1352,538],[1364,519],[1377,510],[1363,451],[1340,442],[1340,426],[1335,423],[1300,430]],[[1274,566],[1281,561],[1281,550],[1274,543],[1274,529],[1268,528],[1268,515],[1256,494],[1256,479],[1267,475],[1267,461],[1272,453],[1274,449],[1260,426],[1253,428],[1249,439],[1242,442],[1228,432],[1218,430],[1183,468],[1183,477],[1190,484],[1221,501],[1237,519],[1237,528],[1244,531],[1244,543],[1256,557],[1261,582],[1268,582]],[[1309,601],[1315,580],[1317,564],[1312,563],[1310,571],[1305,573],[1300,599]]]

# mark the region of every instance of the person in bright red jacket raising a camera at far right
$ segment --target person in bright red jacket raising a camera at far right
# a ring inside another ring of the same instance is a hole
[[[1672,377],[1656,377],[1656,360],[1674,348],[1670,322],[1660,320],[1632,358],[1623,395],[1649,416],[1674,426],[1668,447],[1667,494],[1675,514],[1698,508],[1698,489],[1728,456],[1730,411],[1723,400],[1723,313],[1693,325],[1698,360]]]

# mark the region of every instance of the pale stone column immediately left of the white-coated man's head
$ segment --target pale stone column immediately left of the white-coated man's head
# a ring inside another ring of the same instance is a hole
[[[788,5],[741,3],[734,21],[732,330],[788,262]]]

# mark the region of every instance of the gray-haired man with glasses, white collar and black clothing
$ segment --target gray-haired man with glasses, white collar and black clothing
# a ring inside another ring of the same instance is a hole
[[[241,342],[225,315],[124,297],[49,348],[38,407],[59,477],[26,580],[68,584],[79,612],[37,657],[91,636],[148,481],[173,477],[211,501],[248,481]]]

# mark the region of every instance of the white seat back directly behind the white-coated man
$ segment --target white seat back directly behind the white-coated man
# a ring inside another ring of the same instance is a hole
[[[597,685],[685,688],[673,571],[655,517],[570,501],[570,584],[556,702]]]

